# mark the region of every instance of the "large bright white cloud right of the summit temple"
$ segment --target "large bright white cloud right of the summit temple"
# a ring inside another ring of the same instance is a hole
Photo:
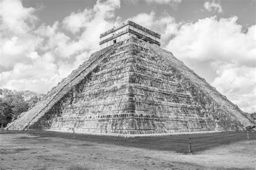
[[[255,25],[242,33],[237,17],[199,19],[180,27],[167,48],[174,48],[181,58],[199,61],[226,61],[253,64],[255,60]],[[245,57],[246,56],[246,57]]]

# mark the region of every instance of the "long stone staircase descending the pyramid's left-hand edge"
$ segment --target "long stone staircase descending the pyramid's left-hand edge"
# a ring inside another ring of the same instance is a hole
[[[56,87],[53,87],[51,91],[38,102],[30,110],[23,112],[14,121],[8,124],[5,130],[25,130],[33,123],[37,122],[47,111],[49,111],[53,105],[55,105],[73,86],[78,84],[84,79],[84,77],[92,72],[97,65],[104,59],[104,56],[109,56],[116,50],[122,42],[103,48],[100,51],[93,53],[89,60],[85,61],[78,69],[74,70],[68,77],[63,79]]]

